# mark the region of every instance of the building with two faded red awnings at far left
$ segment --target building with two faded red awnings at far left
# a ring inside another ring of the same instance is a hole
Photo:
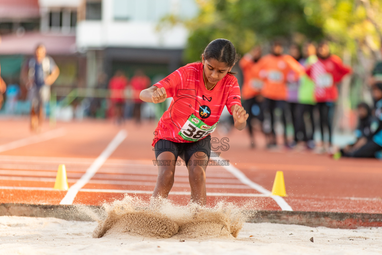
[[[0,64],[7,83],[19,84],[21,65],[42,43],[61,70],[54,86],[85,84],[86,58],[78,53],[75,33],[81,2],[0,0]],[[25,96],[23,86],[21,91]]]

